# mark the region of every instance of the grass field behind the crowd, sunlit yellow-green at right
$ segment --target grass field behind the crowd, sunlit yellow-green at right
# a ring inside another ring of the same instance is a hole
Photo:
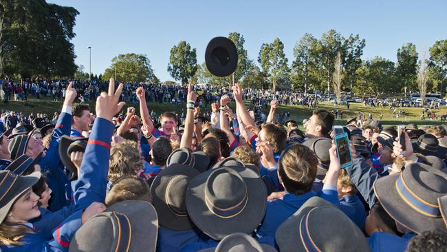
[[[90,102],[90,109],[93,112],[95,104]],[[249,105],[249,101],[246,101],[246,104]],[[132,106],[131,103],[127,103],[127,106]],[[154,110],[157,114],[160,112],[166,111],[174,111],[181,112],[184,105],[173,105],[173,104],[163,104],[163,103],[149,103],[149,111]],[[35,113],[46,113],[49,116],[54,114],[54,112],[60,111],[62,107],[62,102],[50,101],[45,98],[41,100],[36,100],[35,98],[30,98],[28,101],[10,101],[9,103],[0,103],[0,109],[12,110],[16,112],[23,112],[24,114],[30,114],[30,112]],[[230,107],[235,108],[235,104],[231,103]],[[351,116],[356,116],[358,112],[363,112],[365,116],[368,116],[369,112],[373,114],[374,119],[380,118],[380,113],[383,113],[382,124],[384,125],[398,125],[398,124],[407,124],[407,123],[416,123],[417,125],[435,125],[441,123],[439,120],[420,120],[419,117],[422,113],[422,108],[413,108],[413,107],[402,107],[397,108],[397,110],[404,111],[404,114],[400,116],[400,118],[395,118],[393,116],[393,112],[388,107],[363,107],[361,103],[351,103],[351,107],[347,110],[346,105],[339,105],[337,108],[334,108],[332,103],[320,103],[318,106],[323,109],[329,110],[343,110],[344,112],[344,120],[336,120],[336,124],[344,124],[346,118]],[[138,107],[137,107],[138,109]],[[210,106],[206,107],[204,111],[210,111]],[[277,109],[277,114],[281,112],[290,112],[290,116],[292,119],[296,120],[298,123],[303,121],[303,119],[309,117],[311,109],[307,107],[303,107],[301,105],[287,105],[287,106],[279,106]],[[447,106],[441,107],[440,110],[434,109],[432,110],[436,114],[446,114]],[[268,114],[268,109],[265,109],[265,114]]]

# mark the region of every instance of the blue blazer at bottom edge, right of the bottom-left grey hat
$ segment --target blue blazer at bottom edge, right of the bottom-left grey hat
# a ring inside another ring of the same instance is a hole
[[[175,252],[180,251],[182,246],[192,242],[208,242],[208,235],[202,233],[199,229],[190,229],[186,231],[175,231],[158,227],[157,252]]]

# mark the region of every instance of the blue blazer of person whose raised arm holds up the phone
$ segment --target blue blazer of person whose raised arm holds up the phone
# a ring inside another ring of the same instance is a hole
[[[306,200],[314,196],[319,196],[336,206],[339,204],[337,189],[331,185],[325,185],[320,193],[314,191],[309,191],[301,195],[285,193],[282,200],[276,199],[267,202],[264,220],[256,230],[257,237],[274,237],[276,229],[278,229],[287,218],[298,211]]]

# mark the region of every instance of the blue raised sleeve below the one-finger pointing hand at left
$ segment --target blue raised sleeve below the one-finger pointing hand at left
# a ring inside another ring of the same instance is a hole
[[[72,115],[67,113],[61,113],[56,127],[53,130],[52,140],[50,141],[50,147],[43,158],[39,161],[42,171],[50,171],[52,169],[58,169],[61,166],[61,158],[59,157],[59,141],[63,135],[70,135],[70,129],[72,128]]]

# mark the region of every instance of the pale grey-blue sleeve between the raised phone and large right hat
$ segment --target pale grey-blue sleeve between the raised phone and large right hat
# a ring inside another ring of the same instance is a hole
[[[380,178],[379,174],[371,169],[362,156],[354,158],[353,164],[350,167],[346,167],[345,170],[364,200],[369,204],[369,207],[373,207],[373,204],[377,200],[373,185],[375,180]]]

